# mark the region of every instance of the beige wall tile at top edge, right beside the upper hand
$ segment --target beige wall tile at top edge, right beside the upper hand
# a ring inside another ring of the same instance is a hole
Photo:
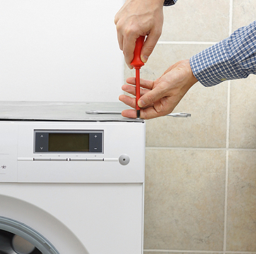
[[[229,0],[182,0],[163,9],[160,40],[217,42],[228,37]]]

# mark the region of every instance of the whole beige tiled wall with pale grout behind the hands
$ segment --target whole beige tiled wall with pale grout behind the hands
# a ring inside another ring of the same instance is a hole
[[[141,78],[256,20],[256,1],[178,0],[164,15]],[[256,76],[197,83],[178,111],[192,117],[146,121],[144,254],[256,254]]]

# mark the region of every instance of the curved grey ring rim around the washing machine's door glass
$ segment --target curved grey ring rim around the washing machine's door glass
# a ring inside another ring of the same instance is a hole
[[[58,250],[54,248],[47,238],[23,222],[0,216],[0,229],[21,236],[26,241],[32,243],[42,254],[59,254]]]

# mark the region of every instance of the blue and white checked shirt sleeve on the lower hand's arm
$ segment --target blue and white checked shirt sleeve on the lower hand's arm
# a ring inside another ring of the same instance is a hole
[[[192,56],[190,66],[204,86],[256,74],[256,20]]]

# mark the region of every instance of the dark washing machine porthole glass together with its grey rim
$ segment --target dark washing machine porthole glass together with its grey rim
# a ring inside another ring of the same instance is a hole
[[[44,236],[21,222],[0,217],[0,254],[59,254]]]

